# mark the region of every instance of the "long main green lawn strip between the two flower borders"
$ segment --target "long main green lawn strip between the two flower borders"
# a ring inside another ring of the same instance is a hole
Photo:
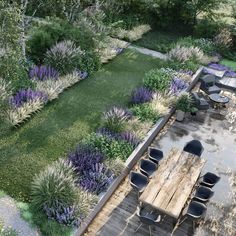
[[[133,88],[160,60],[131,50],[79,82],[17,129],[0,125],[0,189],[29,200],[33,176],[99,126],[103,111],[127,104]]]

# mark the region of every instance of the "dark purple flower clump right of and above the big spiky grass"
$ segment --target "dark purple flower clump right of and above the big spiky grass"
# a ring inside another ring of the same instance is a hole
[[[101,152],[88,144],[80,144],[76,151],[68,155],[68,160],[72,163],[78,175],[91,169],[92,165],[100,163],[104,156]]]

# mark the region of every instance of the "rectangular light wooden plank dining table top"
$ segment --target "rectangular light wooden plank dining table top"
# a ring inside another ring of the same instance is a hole
[[[204,159],[172,148],[139,200],[178,219],[204,164]]]

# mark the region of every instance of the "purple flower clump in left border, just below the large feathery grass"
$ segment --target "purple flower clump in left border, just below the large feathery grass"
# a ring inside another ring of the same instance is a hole
[[[57,80],[59,73],[50,66],[34,66],[29,71],[30,79],[45,81],[48,79]]]

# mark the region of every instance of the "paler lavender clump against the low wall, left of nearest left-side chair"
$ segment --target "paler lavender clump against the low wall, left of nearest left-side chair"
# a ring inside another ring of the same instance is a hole
[[[104,164],[97,163],[91,169],[84,171],[84,175],[79,181],[79,185],[89,192],[99,194],[107,190],[112,183],[114,175]]]

